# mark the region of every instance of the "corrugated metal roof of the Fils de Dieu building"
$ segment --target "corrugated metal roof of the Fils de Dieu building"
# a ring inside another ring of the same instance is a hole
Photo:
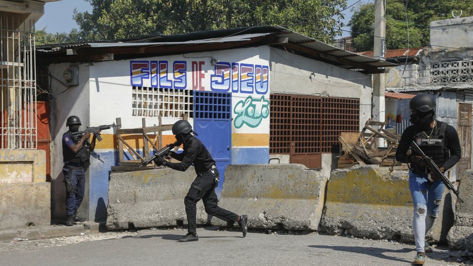
[[[287,38],[286,45],[297,45],[318,52],[325,60],[332,61],[347,69],[363,69],[374,73],[380,67],[396,66],[395,63],[378,60],[364,55],[345,51],[327,43],[312,39],[302,34],[293,32],[281,26],[256,26],[247,28],[235,28],[216,31],[202,31],[186,34],[162,35],[153,34],[150,36],[130,39],[126,42],[87,42],[73,44],[53,44],[37,46],[38,52],[59,52],[65,49],[78,48],[113,48],[113,47],[136,47],[136,46],[178,46],[205,43],[226,43],[251,41],[253,38],[261,36],[273,36],[278,39]],[[279,45],[284,45],[281,43]],[[198,51],[196,48],[196,51]],[[187,49],[188,51],[188,49]],[[299,51],[304,53],[304,51]],[[308,51],[305,50],[305,53]]]

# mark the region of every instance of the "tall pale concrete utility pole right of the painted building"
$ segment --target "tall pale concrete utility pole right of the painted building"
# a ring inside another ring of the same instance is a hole
[[[386,53],[386,0],[375,0],[374,10],[374,58],[384,60]],[[385,121],[385,76],[373,74],[373,98],[372,98],[372,117],[373,121]],[[384,141],[379,138],[378,147],[384,147]]]

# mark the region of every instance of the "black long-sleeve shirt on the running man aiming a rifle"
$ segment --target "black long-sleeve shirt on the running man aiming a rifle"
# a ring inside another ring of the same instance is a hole
[[[202,142],[192,135],[184,139],[184,151],[182,153],[171,152],[171,157],[181,161],[180,163],[168,162],[166,166],[179,171],[186,171],[191,164],[194,164],[195,172],[205,172],[215,164],[212,156]]]

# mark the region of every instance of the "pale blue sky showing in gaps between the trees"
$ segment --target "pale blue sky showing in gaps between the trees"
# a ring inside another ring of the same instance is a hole
[[[359,5],[360,3],[367,3],[369,1],[370,0],[348,0],[347,6],[351,6],[357,2],[357,5]],[[58,2],[46,3],[44,6],[44,15],[36,22],[36,29],[40,30],[46,28],[46,32],[48,33],[69,33],[73,28],[78,29],[79,27],[72,18],[74,9],[77,9],[78,12],[92,12],[90,3],[84,0],[61,0]],[[351,10],[352,8],[349,8],[343,12],[345,14],[345,19],[343,20],[345,24],[348,24],[350,21],[352,15]],[[348,27],[342,29],[350,30]],[[350,33],[344,31],[342,37],[347,36],[350,36]]]

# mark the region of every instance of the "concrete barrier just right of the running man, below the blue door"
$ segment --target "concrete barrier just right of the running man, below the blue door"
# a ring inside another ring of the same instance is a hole
[[[300,164],[228,165],[219,206],[248,215],[251,228],[317,231],[326,182],[321,170]]]

